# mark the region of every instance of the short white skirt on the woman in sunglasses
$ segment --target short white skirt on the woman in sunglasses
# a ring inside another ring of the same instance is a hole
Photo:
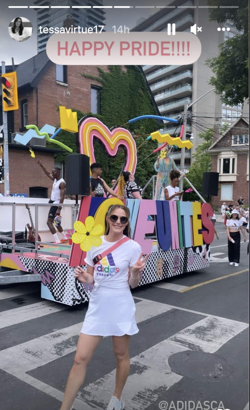
[[[92,336],[135,335],[135,302],[130,289],[103,286],[92,291],[81,333]]]

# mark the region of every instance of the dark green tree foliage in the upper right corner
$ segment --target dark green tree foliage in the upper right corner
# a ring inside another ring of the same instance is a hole
[[[208,0],[209,6],[235,6],[235,0]],[[248,46],[249,46],[249,5],[247,0],[239,2],[238,9],[209,9],[210,20],[224,24],[231,21],[241,34],[219,45],[220,55],[209,59],[206,64],[215,76],[209,84],[216,87],[221,101],[228,105],[243,103],[249,97],[248,88]]]

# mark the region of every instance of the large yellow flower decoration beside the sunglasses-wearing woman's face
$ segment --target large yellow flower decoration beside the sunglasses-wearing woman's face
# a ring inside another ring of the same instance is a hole
[[[82,251],[87,252],[91,246],[102,244],[100,235],[103,232],[103,225],[101,223],[94,225],[93,216],[87,216],[85,225],[81,221],[76,221],[73,226],[76,232],[72,235],[72,241],[74,244],[80,244]]]

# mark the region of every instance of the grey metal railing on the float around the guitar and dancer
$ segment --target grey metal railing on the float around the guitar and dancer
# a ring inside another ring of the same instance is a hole
[[[15,202],[6,202],[6,203],[0,203],[0,206],[12,206],[12,245],[5,245],[1,244],[0,247],[4,249],[11,249],[12,253],[15,251],[20,251],[21,255],[23,255],[23,252],[33,252],[35,255],[37,253],[45,253],[46,255],[55,255],[54,252],[48,252],[39,249],[39,245],[49,245],[49,246],[58,246],[58,244],[53,244],[52,242],[41,242],[38,240],[38,235],[39,235],[39,227],[38,227],[38,210],[39,207],[51,207],[51,204],[49,203],[36,203],[36,204],[30,204],[30,207],[35,207],[35,242],[34,242],[34,249],[33,248],[23,248],[21,246],[16,246],[15,245],[15,239],[16,239],[16,206],[25,206],[24,203],[15,203]],[[72,208],[72,213],[71,213],[71,226],[73,226],[74,222],[77,219],[78,215],[78,208],[79,204],[74,203],[74,204],[62,204],[63,207],[71,207]],[[33,243],[33,242],[32,242]],[[60,246],[63,246],[64,248],[71,248],[71,245],[65,245],[65,244],[60,244]],[[56,253],[58,255],[58,253]],[[61,253],[61,257],[69,257],[69,255]]]

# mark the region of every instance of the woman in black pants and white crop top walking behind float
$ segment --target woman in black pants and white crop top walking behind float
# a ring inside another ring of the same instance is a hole
[[[233,210],[229,219],[227,219],[227,236],[228,236],[228,260],[229,265],[239,266],[240,249],[241,249],[241,234],[243,233],[244,242],[246,242],[245,231],[242,221],[239,219],[239,211]]]

